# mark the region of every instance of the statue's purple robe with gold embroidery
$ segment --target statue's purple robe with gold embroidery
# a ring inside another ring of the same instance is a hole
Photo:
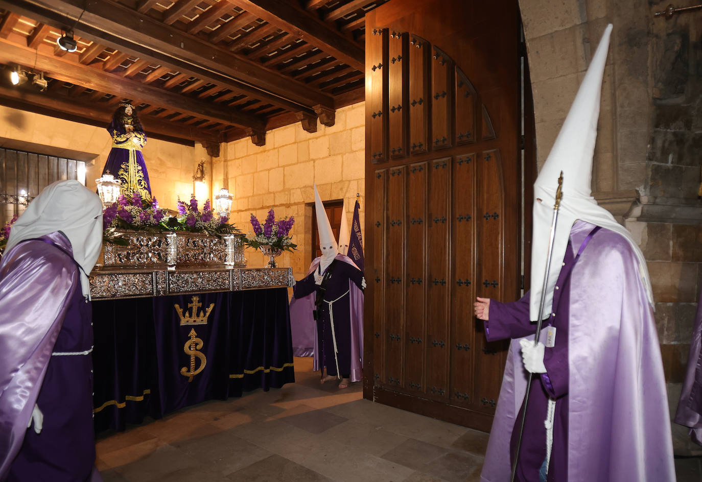
[[[107,132],[112,136],[112,149],[107,156],[102,174],[109,170],[115,179],[121,180],[120,194],[131,196],[136,189],[143,199],[150,200],[149,173],[141,153],[142,147],[146,144],[146,134],[143,130],[135,130],[135,138],[139,143],[133,142],[124,125],[114,120],[110,122],[110,126],[107,126]]]

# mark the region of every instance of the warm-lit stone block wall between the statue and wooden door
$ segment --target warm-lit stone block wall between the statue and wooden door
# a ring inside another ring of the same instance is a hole
[[[345,199],[351,222],[356,194],[361,194],[361,223],[364,222],[364,103],[336,111],[332,127],[317,124],[316,133],[300,123],[270,130],[262,147],[249,138],[223,145],[221,159],[214,163],[213,187],[225,182],[234,196],[232,220],[244,233],[251,231],[251,213],[263,222],[270,208],[276,217],[295,216],[291,234],[298,245],[295,253],[279,257],[282,266],[293,267],[302,278],[312,261],[312,204],[317,183],[322,201]],[[225,181],[226,180],[226,181]],[[246,250],[249,266],[265,264],[263,255]]]

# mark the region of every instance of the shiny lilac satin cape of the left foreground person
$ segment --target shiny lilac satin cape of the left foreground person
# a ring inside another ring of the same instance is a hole
[[[68,253],[70,243],[53,232]],[[12,248],[0,263],[0,481],[25,439],[51,350],[74,290],[78,270],[64,253],[43,241]]]

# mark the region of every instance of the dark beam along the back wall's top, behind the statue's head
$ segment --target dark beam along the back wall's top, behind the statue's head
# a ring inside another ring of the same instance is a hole
[[[29,88],[18,89],[4,86],[0,86],[0,104],[58,119],[67,119],[100,127],[105,127],[110,123],[113,110],[105,102],[82,102],[61,95],[55,95],[55,97],[50,98],[46,95],[46,92],[37,93]],[[142,121],[147,135],[152,138],[197,142],[219,142],[220,140],[216,133],[209,133],[198,128],[173,126],[167,121],[159,121],[159,119],[154,119],[151,116],[143,118]]]

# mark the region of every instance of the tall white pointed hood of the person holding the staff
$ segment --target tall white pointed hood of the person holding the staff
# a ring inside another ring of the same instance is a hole
[[[631,244],[639,258],[639,270],[647,288],[649,302],[653,303],[651,281],[646,260],[630,232],[614,219],[608,210],[597,205],[592,197],[592,156],[597,138],[597,119],[600,116],[600,91],[604,64],[607,60],[609,36],[612,26],[607,25],[600,45],[592,57],[587,74],[581,83],[570,112],[556,138],[538,178],[534,182],[534,233],[531,241],[531,296],[529,318],[538,319],[538,305],[546,269],[546,255],[550,236],[550,225],[558,187],[558,177],[563,171],[563,199],[558,212],[544,314],[551,312],[555,288],[568,246],[571,227],[576,220],[590,222],[620,233]],[[538,201],[541,199],[541,202]]]

